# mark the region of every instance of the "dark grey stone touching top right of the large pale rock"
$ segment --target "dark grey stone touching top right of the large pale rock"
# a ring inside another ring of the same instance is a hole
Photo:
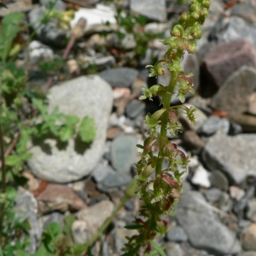
[[[99,73],[99,76],[114,87],[131,87],[138,71],[131,67],[114,67]]]

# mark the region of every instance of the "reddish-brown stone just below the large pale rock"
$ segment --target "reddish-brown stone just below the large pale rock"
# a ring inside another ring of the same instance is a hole
[[[40,212],[78,211],[86,207],[84,201],[73,189],[61,184],[49,183],[37,199],[39,202],[43,202],[41,203]]]

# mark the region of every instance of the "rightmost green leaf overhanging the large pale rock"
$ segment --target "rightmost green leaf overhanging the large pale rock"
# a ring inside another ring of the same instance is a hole
[[[79,136],[84,143],[91,143],[96,137],[95,120],[85,116],[79,126]]]

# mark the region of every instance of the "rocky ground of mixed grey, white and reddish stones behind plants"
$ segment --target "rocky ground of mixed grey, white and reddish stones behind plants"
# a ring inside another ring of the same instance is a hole
[[[17,3],[33,21],[42,15],[47,2]],[[65,10],[72,3],[60,0],[55,8]],[[77,8],[80,2],[75,3]],[[136,144],[147,136],[145,113],[160,103],[138,100],[141,85],[156,83],[148,79],[145,66],[152,57],[158,59],[165,53],[160,39],[151,40],[146,55],[137,59],[132,35],[126,34],[121,46],[117,43],[113,6],[97,0],[81,5],[71,26],[84,17],[84,36],[67,56],[68,80],[54,77],[49,109],[59,106],[63,113],[80,118],[90,115],[96,120],[96,140],[86,150],[75,140],[64,148],[49,138],[31,143],[33,156],[24,174],[29,189],[20,188],[16,208],[26,212],[23,217],[32,225],[32,251],[44,227],[51,222],[61,224],[68,212],[75,213],[73,238],[81,243],[111,215],[136,173]],[[124,8],[148,18],[142,32],[167,38],[184,6],[171,0],[131,0],[124,1]],[[111,25],[107,37],[102,36],[107,29],[102,21]],[[49,77],[40,72],[38,63],[63,54],[66,35],[54,22],[41,26],[37,40],[20,55],[19,65],[26,63],[30,88],[46,87]],[[92,67],[97,73],[84,75]],[[255,256],[256,1],[212,0],[196,54],[186,55],[183,67],[186,73],[194,73],[196,93],[185,104],[197,108],[196,126],[181,117],[183,134],[170,137],[191,154],[191,161],[183,177],[183,193],[177,195],[176,215],[170,217],[170,230],[159,242],[170,256]],[[166,73],[158,83],[167,80]],[[177,97],[172,100],[178,103]],[[105,237],[102,255],[120,255],[125,236],[131,233],[123,227],[131,224],[138,205],[133,198],[121,209]]]

